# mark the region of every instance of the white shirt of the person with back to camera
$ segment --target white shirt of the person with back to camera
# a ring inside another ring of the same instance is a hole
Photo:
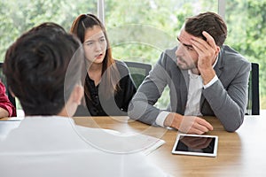
[[[83,136],[105,142],[104,133],[69,118],[27,117],[0,142],[1,176],[167,176],[141,153],[108,152],[108,144],[101,150]]]

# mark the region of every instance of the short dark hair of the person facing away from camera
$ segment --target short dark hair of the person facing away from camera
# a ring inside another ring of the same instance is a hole
[[[81,42],[48,22],[21,35],[6,51],[4,74],[26,115],[56,115],[81,81],[83,62]]]

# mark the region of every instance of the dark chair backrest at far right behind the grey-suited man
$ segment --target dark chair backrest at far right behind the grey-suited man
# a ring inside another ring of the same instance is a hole
[[[260,115],[259,65],[256,63],[251,64],[246,114]]]

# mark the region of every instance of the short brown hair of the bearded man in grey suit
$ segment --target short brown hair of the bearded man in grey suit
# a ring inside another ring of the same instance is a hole
[[[227,27],[221,16],[215,12],[204,12],[186,19],[184,30],[190,35],[206,40],[203,31],[215,39],[218,46],[222,46],[227,36]]]

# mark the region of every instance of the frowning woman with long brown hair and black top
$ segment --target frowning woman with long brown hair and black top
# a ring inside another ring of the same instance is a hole
[[[102,22],[93,14],[81,14],[74,19],[70,32],[80,39],[85,50],[88,74],[84,96],[90,115],[127,115],[136,87],[127,65],[113,59]]]

